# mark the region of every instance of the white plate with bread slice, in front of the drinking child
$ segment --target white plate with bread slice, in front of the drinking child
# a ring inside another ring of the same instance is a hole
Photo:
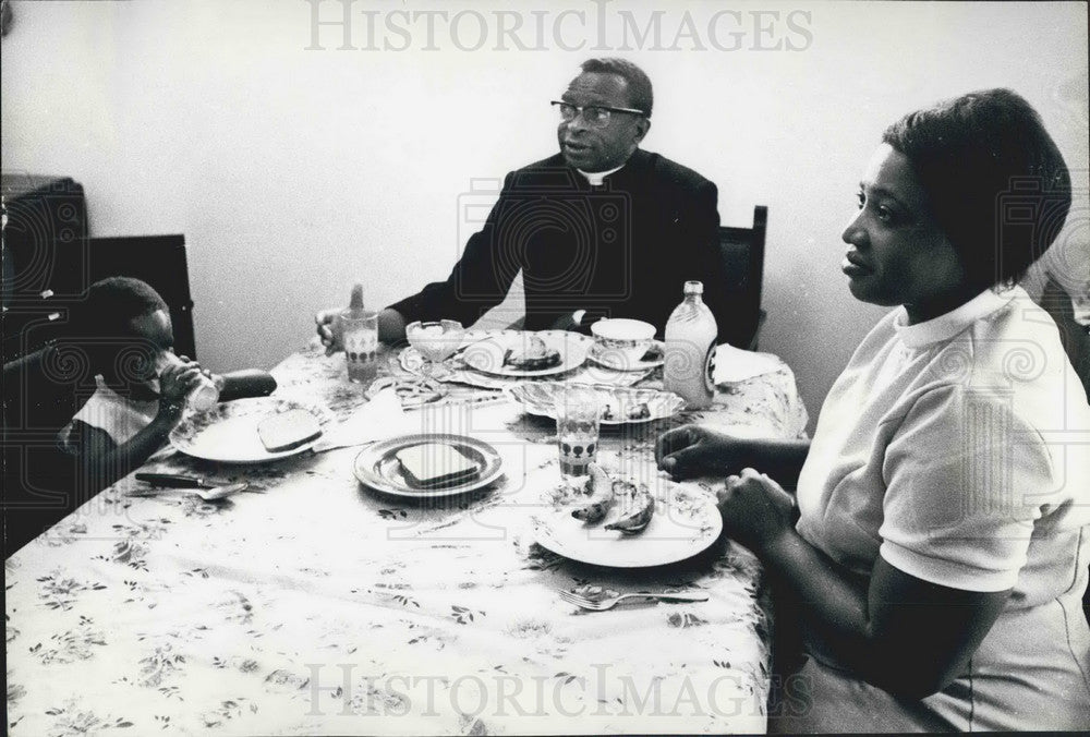
[[[262,463],[310,450],[336,422],[317,404],[278,397],[221,402],[187,415],[170,433],[186,456],[220,463]]]

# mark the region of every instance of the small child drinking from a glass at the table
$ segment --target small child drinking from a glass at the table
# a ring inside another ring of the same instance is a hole
[[[263,371],[216,376],[196,361],[174,357],[167,304],[140,279],[111,277],[92,285],[75,328],[96,374],[96,389],[59,437],[80,459],[92,493],[162,446],[199,383],[211,380],[221,400],[264,396],[276,388]]]

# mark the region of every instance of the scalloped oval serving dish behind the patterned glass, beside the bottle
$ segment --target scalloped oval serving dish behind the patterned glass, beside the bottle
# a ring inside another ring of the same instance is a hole
[[[556,394],[569,386],[564,382],[523,382],[504,387],[504,394],[522,404],[530,414],[556,420]],[[580,385],[581,387],[584,385]],[[685,400],[673,391],[588,384],[603,407],[603,425],[654,422],[676,414]]]

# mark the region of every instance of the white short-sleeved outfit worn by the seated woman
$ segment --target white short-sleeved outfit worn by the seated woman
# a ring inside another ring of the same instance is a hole
[[[1090,408],[1022,289],[886,315],[828,394],[798,503],[799,533],[856,573],[881,555],[1013,590],[969,672],[924,700],[950,726],[1090,725]]]

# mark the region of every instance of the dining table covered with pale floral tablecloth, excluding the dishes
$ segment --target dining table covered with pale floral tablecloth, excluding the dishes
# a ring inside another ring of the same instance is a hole
[[[665,479],[655,440],[690,422],[806,436],[786,363],[752,354],[760,366],[731,376],[742,352],[719,353],[727,375],[712,406],[603,425],[603,462]],[[376,362],[391,380],[421,371],[404,347]],[[271,373],[274,398],[336,421],[371,401],[343,353],[316,341]],[[663,385],[661,367],[559,378]],[[249,464],[168,446],[138,470],[251,488],[220,502],[143,495],[130,474],[16,552],[4,569],[9,734],[764,732],[773,620],[758,559],[723,534],[683,560],[639,567],[542,544],[533,520],[562,486],[556,423],[501,380],[482,384],[447,382],[396,428],[494,448],[501,473],[470,493],[370,487],[355,466],[368,445]],[[714,504],[723,483],[677,485]],[[561,596],[571,591],[706,601],[594,612]]]

